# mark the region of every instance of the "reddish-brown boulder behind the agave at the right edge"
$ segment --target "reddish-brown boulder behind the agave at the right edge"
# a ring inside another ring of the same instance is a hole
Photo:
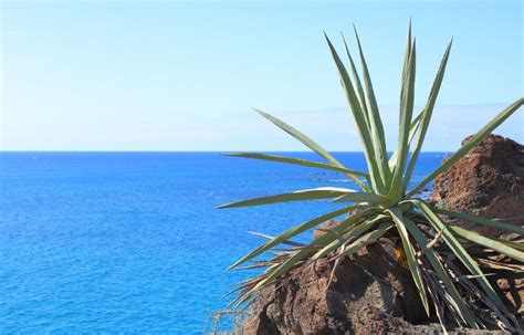
[[[509,218],[512,223],[523,226],[524,146],[490,135],[437,177],[432,199],[448,210],[491,219]],[[497,233],[486,228],[475,230]]]

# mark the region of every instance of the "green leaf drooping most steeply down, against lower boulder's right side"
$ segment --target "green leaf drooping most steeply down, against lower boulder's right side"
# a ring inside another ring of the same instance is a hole
[[[422,301],[422,305],[426,310],[426,313],[429,316],[430,313],[429,313],[428,294],[426,293],[426,285],[422,280],[422,272],[420,271],[420,266],[415,257],[416,252],[415,252],[413,245],[411,244],[409,240],[409,234],[404,223],[405,218],[402,216],[402,211],[398,208],[391,208],[391,209],[388,209],[388,211],[391,213],[391,218],[394,219],[394,222],[397,226],[400,240],[402,241],[404,252],[406,253],[406,259],[408,261],[409,271],[411,272],[411,275],[413,276],[415,284],[417,285],[417,290],[419,291],[419,295]]]

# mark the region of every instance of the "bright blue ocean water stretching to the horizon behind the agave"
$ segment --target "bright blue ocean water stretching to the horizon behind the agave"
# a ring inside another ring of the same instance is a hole
[[[422,154],[415,179],[446,155]],[[335,156],[365,167],[359,153]],[[248,275],[224,270],[263,242],[248,231],[339,205],[214,208],[321,186],[352,184],[217,153],[0,153],[0,333],[202,334]]]

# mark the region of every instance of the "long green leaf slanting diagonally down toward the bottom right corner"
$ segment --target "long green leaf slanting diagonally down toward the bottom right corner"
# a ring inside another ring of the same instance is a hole
[[[471,272],[473,275],[478,275],[476,281],[482,286],[484,292],[488,296],[493,300],[493,302],[503,311],[505,311],[505,306],[502,303],[501,299],[496,294],[493,286],[484,276],[484,273],[479,268],[476,262],[473,258],[465,251],[462,244],[457,240],[453,233],[448,228],[437,213],[434,213],[431,208],[426,205],[423,201],[420,200],[410,200],[420,211],[422,214],[428,219],[429,223],[437,231],[442,231],[442,239],[444,240],[446,244],[451,249],[451,251],[457,255],[457,258],[461,261],[462,264]]]

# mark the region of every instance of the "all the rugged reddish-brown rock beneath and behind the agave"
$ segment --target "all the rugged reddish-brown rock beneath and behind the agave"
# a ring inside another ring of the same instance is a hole
[[[438,177],[433,200],[442,208],[486,218],[524,216],[524,147],[501,136],[488,137]],[[522,224],[524,218],[512,222]],[[392,249],[373,244],[344,259],[329,282],[332,270],[333,263],[322,260],[262,290],[243,333],[441,333],[434,320],[427,320],[411,275],[399,266]],[[514,306],[522,308],[524,280],[503,278],[496,283]]]

